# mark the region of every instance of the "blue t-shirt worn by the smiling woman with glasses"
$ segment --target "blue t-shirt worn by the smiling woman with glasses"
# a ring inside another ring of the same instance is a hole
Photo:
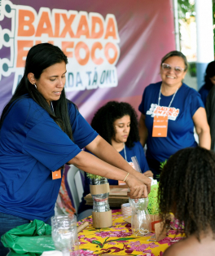
[[[179,149],[195,147],[194,122],[192,120],[196,110],[204,108],[200,94],[182,84],[174,99],[173,95],[160,94],[160,107],[158,97],[161,82],[147,86],[143,92],[143,99],[138,110],[146,116],[147,126],[147,157],[157,161],[165,161]],[[168,108],[169,103],[173,102]],[[155,113],[160,116],[168,115],[168,132],[166,138],[152,137],[153,118]]]

